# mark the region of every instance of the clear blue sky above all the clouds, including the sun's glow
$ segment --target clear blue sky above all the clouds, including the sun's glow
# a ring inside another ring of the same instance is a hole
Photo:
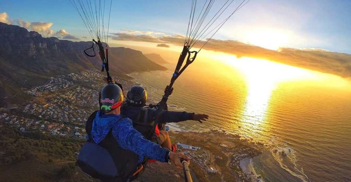
[[[110,32],[129,29],[185,34],[190,5],[190,0],[114,0]],[[350,0],[251,0],[214,38],[239,40],[262,47],[265,42],[273,40],[282,47],[351,53],[350,9]],[[52,30],[65,29],[78,38],[88,35],[68,0],[0,0],[2,12],[12,20],[52,22]]]

